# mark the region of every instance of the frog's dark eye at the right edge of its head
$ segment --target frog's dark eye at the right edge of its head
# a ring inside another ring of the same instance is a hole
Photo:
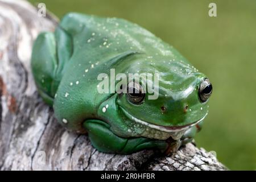
[[[199,88],[200,100],[202,102],[207,101],[211,94],[212,94],[212,84],[210,83],[208,78],[204,78]]]

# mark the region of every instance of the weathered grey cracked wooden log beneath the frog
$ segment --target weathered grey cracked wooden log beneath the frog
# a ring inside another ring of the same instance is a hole
[[[63,129],[36,92],[30,70],[33,40],[53,31],[56,19],[39,17],[26,1],[0,0],[1,170],[225,170],[213,154],[187,144],[176,154],[154,151],[104,154],[86,135]]]

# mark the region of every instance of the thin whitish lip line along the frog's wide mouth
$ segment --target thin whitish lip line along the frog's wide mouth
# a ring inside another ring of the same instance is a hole
[[[164,127],[164,126],[159,126],[159,125],[154,125],[152,123],[148,123],[146,121],[142,121],[141,119],[135,118],[133,117],[133,115],[129,114],[125,109],[123,109],[123,107],[119,106],[121,108],[121,110],[123,111],[123,113],[125,113],[126,117],[128,117],[129,119],[137,122],[137,123],[141,123],[144,126],[148,126],[151,129],[156,129],[159,131],[163,131],[166,133],[177,133],[179,131],[186,131],[188,129],[190,129],[191,127],[197,125],[198,123],[200,123],[201,121],[203,121],[203,119],[207,116],[208,112],[204,115],[204,117],[202,117],[201,119],[199,119],[198,121],[195,121],[191,124],[188,125],[184,125],[184,126],[173,126],[173,127]]]

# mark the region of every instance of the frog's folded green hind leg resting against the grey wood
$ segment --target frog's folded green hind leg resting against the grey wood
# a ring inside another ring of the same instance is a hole
[[[65,62],[72,54],[71,37],[61,28],[55,32],[43,32],[34,42],[31,68],[36,86],[43,100],[53,104],[62,77]]]

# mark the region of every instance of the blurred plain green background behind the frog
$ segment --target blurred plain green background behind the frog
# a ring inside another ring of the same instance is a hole
[[[61,18],[69,11],[138,23],[176,47],[213,83],[196,143],[230,169],[256,169],[256,1],[30,0]],[[208,5],[217,4],[217,17]]]

